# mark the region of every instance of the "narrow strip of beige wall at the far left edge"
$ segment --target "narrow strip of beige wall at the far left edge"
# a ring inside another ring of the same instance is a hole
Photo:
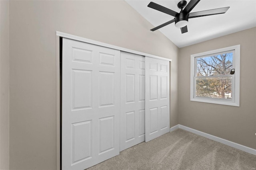
[[[0,169],[9,168],[9,3],[0,1]]]

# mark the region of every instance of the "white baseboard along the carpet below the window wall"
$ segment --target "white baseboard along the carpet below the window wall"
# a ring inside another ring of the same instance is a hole
[[[176,126],[174,126],[174,127],[171,127],[171,128],[170,128],[170,131],[174,131],[174,130],[177,129],[177,128],[180,128],[180,129],[189,131],[189,132],[191,132],[191,133],[195,133],[195,134],[197,134],[197,135],[200,135],[200,136],[202,136],[202,137],[206,137],[206,138],[211,139],[211,140],[213,140],[213,141],[217,141],[217,142],[223,143],[223,144],[225,144],[225,145],[228,145],[228,146],[230,146],[230,147],[234,147],[234,148],[239,149],[239,150],[242,150],[242,151],[244,151],[244,152],[248,152],[248,153],[250,153],[250,154],[256,155],[256,149],[252,149],[252,148],[246,147],[246,146],[244,146],[244,145],[240,145],[240,144],[238,144],[238,143],[234,143],[234,142],[228,141],[228,140],[226,140],[226,139],[222,139],[222,138],[220,138],[220,137],[216,137],[216,136],[210,135],[210,134],[208,134],[208,133],[204,133],[204,132],[201,132],[201,131],[198,131],[198,130],[196,130],[196,129],[192,129],[192,128],[190,128],[190,127],[186,127],[186,126],[183,126],[183,125],[176,125]]]

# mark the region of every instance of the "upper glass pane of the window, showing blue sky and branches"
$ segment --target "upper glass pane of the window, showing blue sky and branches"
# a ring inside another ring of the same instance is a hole
[[[216,76],[230,74],[233,66],[233,52],[196,58],[195,76]]]

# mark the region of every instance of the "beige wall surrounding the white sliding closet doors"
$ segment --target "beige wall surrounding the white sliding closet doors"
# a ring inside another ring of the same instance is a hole
[[[10,169],[56,168],[56,31],[172,59],[178,47],[124,1],[10,1]]]

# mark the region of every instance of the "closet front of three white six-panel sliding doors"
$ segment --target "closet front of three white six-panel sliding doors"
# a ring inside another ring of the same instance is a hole
[[[169,61],[62,38],[63,170],[170,131]]]

